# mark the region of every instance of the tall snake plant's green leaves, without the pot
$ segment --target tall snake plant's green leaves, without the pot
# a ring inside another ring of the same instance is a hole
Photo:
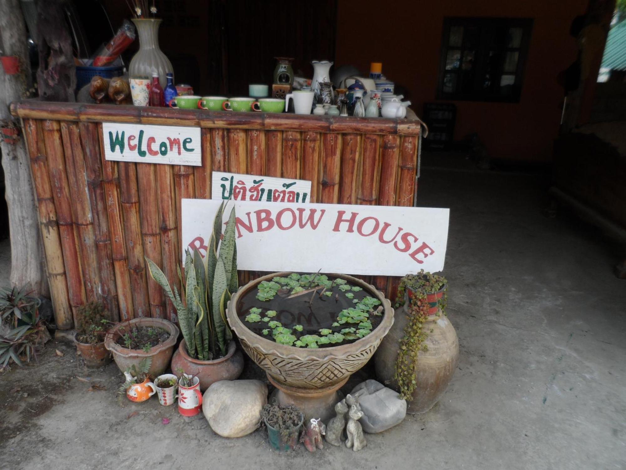
[[[226,321],[226,306],[239,287],[237,281],[237,246],[235,245],[235,208],[230,211],[222,238],[224,203],[215,214],[213,232],[207,244],[207,256],[197,249],[185,250],[185,281],[178,294],[153,261],[146,258],[150,276],[165,290],[178,312],[187,352],[199,360],[226,355],[232,332]],[[218,249],[219,248],[219,249]],[[180,268],[178,269],[180,276]]]

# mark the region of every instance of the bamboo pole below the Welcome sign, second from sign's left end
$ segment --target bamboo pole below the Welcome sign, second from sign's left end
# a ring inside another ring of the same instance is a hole
[[[126,261],[133,295],[135,318],[150,316],[148,300],[148,279],[143,253],[143,238],[139,217],[139,191],[137,172],[134,163],[119,162],[120,202],[124,219],[124,240],[126,243]]]

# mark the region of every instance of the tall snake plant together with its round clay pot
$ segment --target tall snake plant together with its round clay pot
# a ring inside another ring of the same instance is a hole
[[[225,319],[225,308],[238,284],[235,209],[230,211],[220,242],[223,209],[222,203],[213,221],[206,258],[202,259],[197,250],[193,254],[186,251],[186,285],[181,295],[176,286],[172,291],[165,274],[146,258],[150,275],[175,305],[183,332],[172,370],[197,376],[202,391],[218,380],[237,379],[244,368],[244,358]]]

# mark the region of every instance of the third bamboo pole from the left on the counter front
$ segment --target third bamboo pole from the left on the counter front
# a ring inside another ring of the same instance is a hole
[[[85,172],[85,157],[81,147],[81,135],[78,123],[61,122],[61,136],[65,152],[65,165],[68,175],[69,194],[71,195],[74,230],[78,232],[81,254],[81,266],[85,281],[85,293],[88,301],[102,301],[99,293],[100,271],[96,236],[91,217],[91,206]]]

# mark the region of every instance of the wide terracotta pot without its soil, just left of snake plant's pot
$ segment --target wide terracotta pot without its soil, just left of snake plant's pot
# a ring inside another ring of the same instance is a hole
[[[128,349],[118,345],[116,343],[118,338],[133,326],[156,326],[163,328],[163,330],[170,333],[170,337],[163,343],[150,348],[150,352],[144,352],[141,349]],[[133,318],[133,320],[118,323],[109,330],[105,338],[105,347],[113,353],[113,360],[115,360],[121,372],[125,372],[133,364],[138,367],[143,358],[151,357],[152,364],[150,365],[150,370],[148,370],[148,375],[157,377],[165,372],[165,369],[170,365],[170,359],[172,358],[174,345],[177,340],[178,327],[172,322],[162,318]]]

